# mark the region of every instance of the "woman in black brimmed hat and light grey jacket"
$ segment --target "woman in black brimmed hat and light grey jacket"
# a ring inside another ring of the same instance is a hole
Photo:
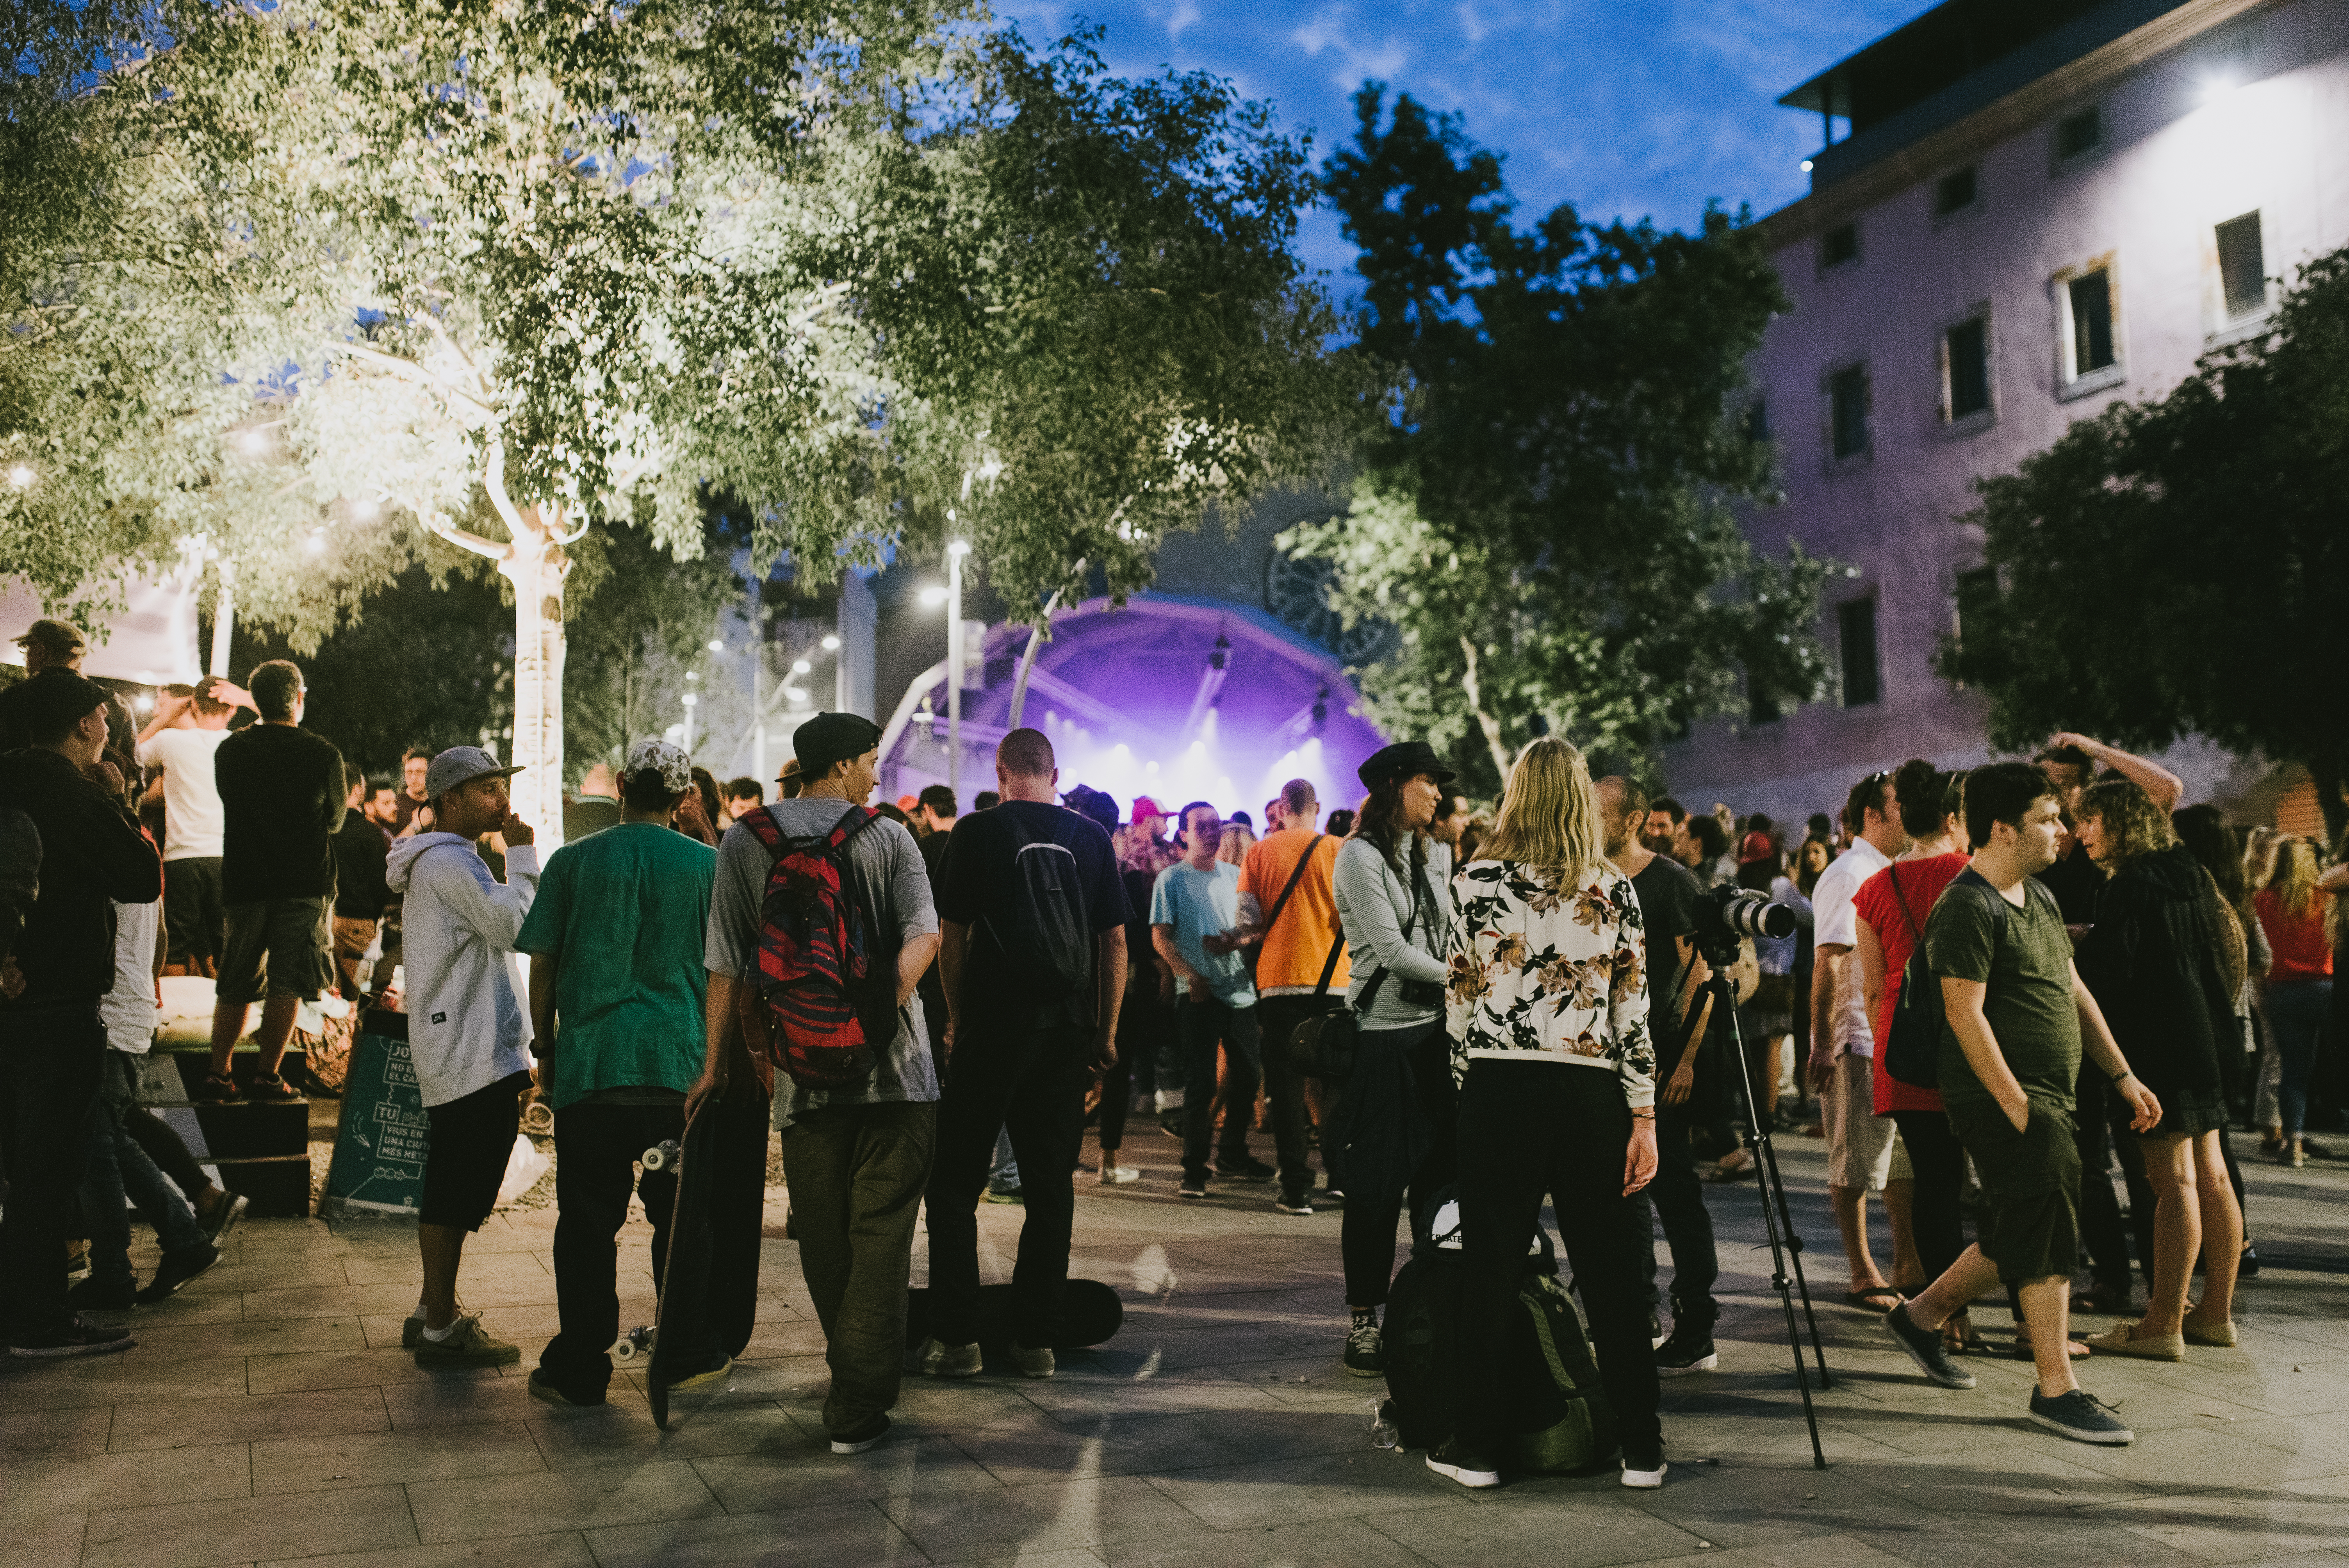
[[[1332,892],[1346,934],[1360,1038],[1330,1136],[1346,1150],[1346,1371],[1386,1373],[1379,1307],[1395,1275],[1395,1218],[1452,1181],[1452,1042],[1445,1040],[1445,944],[1452,850],[1428,836],[1454,772],[1409,739],[1358,770],[1369,800],[1337,850]],[[1414,1214],[1416,1232],[1416,1214]]]

